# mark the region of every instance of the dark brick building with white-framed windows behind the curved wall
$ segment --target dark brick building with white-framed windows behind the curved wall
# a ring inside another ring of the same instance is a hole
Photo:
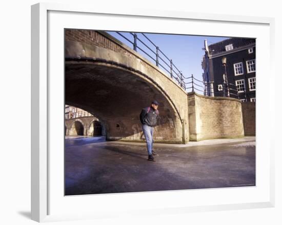
[[[255,102],[255,39],[232,37],[212,45],[205,40],[204,44],[205,95]]]

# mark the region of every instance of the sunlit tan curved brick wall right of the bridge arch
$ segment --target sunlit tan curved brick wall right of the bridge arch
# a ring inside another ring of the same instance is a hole
[[[244,137],[241,103],[237,99],[188,93],[190,141]]]

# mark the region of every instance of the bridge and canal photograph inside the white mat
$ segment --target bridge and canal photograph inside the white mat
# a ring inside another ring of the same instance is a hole
[[[255,38],[65,28],[64,47],[65,196],[256,186]]]

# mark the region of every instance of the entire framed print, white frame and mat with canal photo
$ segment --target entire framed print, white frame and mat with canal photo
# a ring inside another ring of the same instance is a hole
[[[273,207],[272,18],[36,4],[31,22],[33,220]]]

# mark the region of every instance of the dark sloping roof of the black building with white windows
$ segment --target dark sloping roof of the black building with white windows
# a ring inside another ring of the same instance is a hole
[[[226,52],[225,46],[233,45],[233,50],[255,44],[255,39],[246,39],[240,37],[232,37],[221,42],[209,45],[209,54],[214,55],[221,52]]]

